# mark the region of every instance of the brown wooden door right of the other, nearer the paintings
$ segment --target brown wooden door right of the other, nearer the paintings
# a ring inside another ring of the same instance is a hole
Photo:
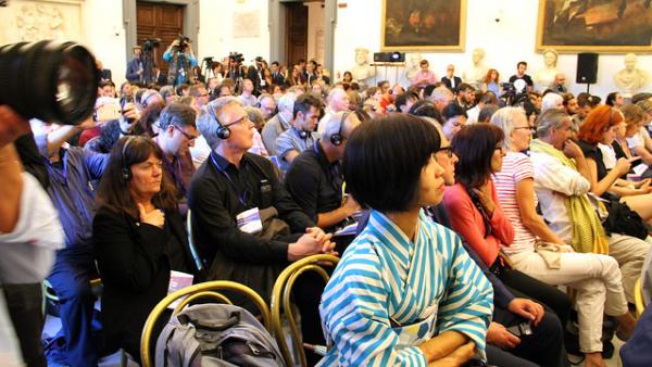
[[[286,7],[286,63],[297,65],[308,58],[308,7],[301,2],[285,3]]]

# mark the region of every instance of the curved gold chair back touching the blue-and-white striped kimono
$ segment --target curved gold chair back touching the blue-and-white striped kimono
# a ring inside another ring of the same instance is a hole
[[[312,255],[292,263],[285,270],[283,270],[283,273],[280,273],[276,279],[272,290],[272,328],[274,329],[274,336],[276,337],[276,342],[278,343],[278,347],[280,349],[280,353],[283,354],[286,366],[296,366],[296,363],[283,332],[283,326],[280,321],[281,312],[285,312],[289,321],[292,343],[297,346],[296,352],[299,355],[299,365],[302,367],[308,366],[305,352],[303,351],[303,343],[297,328],[297,321],[294,317],[296,312],[290,300],[290,296],[292,295],[292,287],[294,286],[297,278],[306,271],[317,273],[319,276],[322,276],[322,279],[324,279],[324,284],[326,284],[330,279],[330,276],[319,264],[331,263],[336,265],[338,262],[339,257],[333,255]]]

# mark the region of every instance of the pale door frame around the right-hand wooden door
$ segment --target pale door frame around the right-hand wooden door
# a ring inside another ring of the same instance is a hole
[[[269,23],[269,60],[278,61],[281,64],[288,63],[285,60],[286,35],[285,35],[285,9],[284,2],[303,2],[303,0],[268,0],[268,23]],[[334,72],[335,53],[335,27],[337,25],[337,0],[324,1],[324,68]]]

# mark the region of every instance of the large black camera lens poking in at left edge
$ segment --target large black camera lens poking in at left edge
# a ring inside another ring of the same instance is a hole
[[[0,104],[25,118],[76,125],[93,111],[100,74],[73,42],[20,42],[0,48]]]

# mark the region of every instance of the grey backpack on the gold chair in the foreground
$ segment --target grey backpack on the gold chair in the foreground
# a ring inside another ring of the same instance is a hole
[[[190,306],[171,317],[156,340],[155,367],[284,366],[276,341],[247,309]]]

